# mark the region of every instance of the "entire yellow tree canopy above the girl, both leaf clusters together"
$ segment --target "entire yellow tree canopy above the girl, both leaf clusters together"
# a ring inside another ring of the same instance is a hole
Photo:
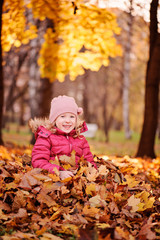
[[[38,64],[42,77],[64,81],[70,74],[75,80],[84,69],[98,71],[109,64],[109,57],[122,54],[115,34],[120,34],[116,16],[106,9],[83,1],[5,0],[3,6],[2,46],[9,51],[37,37],[37,27],[29,21],[53,21],[44,34]]]

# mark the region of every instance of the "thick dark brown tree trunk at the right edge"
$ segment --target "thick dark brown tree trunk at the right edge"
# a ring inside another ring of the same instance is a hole
[[[154,144],[158,126],[160,83],[160,33],[157,23],[158,0],[152,0],[150,8],[150,57],[145,85],[145,112],[138,157],[155,158]]]

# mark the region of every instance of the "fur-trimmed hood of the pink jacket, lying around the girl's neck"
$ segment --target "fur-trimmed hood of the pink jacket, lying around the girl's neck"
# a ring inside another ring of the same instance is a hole
[[[61,131],[60,129],[53,127],[53,124],[47,118],[30,119],[28,122],[28,125],[34,134],[37,133],[37,131],[39,131],[41,127],[47,129],[51,133],[55,133],[55,129],[56,129],[56,134],[64,134],[64,132]],[[78,128],[80,129],[80,133],[88,131],[87,124],[85,121],[81,121],[80,124],[78,125]],[[74,134],[74,133],[75,133],[75,130],[72,130],[71,134]]]

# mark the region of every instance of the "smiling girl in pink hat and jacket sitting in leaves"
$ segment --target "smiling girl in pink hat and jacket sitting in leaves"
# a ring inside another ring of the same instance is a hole
[[[73,173],[61,166],[52,164],[49,160],[61,155],[71,156],[75,150],[76,166],[83,156],[96,168],[89,144],[81,133],[87,131],[87,125],[79,120],[83,109],[78,107],[74,98],[59,96],[53,98],[49,120],[30,120],[29,126],[35,133],[36,142],[32,150],[32,165],[54,173],[54,168],[59,170],[60,178],[72,177]]]

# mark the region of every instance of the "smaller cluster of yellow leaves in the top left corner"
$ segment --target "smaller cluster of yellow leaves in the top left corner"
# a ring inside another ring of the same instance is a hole
[[[9,51],[11,46],[20,47],[37,37],[37,29],[26,24],[25,3],[23,0],[5,0],[2,14],[2,48]]]

